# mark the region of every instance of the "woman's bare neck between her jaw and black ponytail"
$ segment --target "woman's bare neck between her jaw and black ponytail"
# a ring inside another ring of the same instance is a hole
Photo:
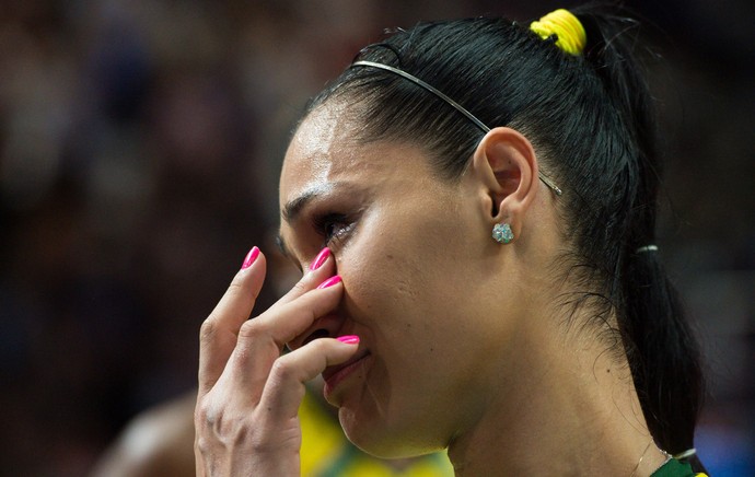
[[[516,382],[493,376],[493,394],[451,442],[456,475],[652,474],[665,457],[626,362],[596,339],[567,344],[544,334],[523,340],[518,362],[507,364],[530,371]]]

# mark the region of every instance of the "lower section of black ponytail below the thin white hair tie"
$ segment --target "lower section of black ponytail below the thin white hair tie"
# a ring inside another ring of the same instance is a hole
[[[658,252],[630,252],[625,276],[625,347],[650,432],[661,449],[694,447],[702,398],[698,346]]]

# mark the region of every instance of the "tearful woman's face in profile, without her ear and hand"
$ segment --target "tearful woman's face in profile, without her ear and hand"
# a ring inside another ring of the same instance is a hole
[[[512,335],[490,198],[468,174],[437,178],[418,147],[358,143],[339,113],[307,117],[281,173],[289,255],[305,269],[327,245],[345,284],[340,307],[301,339],[360,336],[359,368],[326,391],[356,444],[385,456],[440,449],[481,412]]]

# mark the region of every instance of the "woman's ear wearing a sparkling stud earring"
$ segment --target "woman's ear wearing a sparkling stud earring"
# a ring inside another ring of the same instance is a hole
[[[477,146],[472,168],[492,201],[490,226],[507,222],[519,237],[523,218],[539,189],[532,143],[514,129],[495,128]]]

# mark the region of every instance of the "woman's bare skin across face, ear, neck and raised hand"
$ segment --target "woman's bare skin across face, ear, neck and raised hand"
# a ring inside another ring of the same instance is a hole
[[[325,104],[287,152],[280,236],[302,281],[246,321],[260,254],[202,326],[198,474],[298,475],[297,409],[320,373],[347,435],[374,455],[448,446],[457,475],[501,462],[510,475],[631,474],[650,434],[626,361],[564,326],[574,284],[554,274],[564,234],[530,141],[495,128],[451,182],[419,147],[359,143],[357,130]],[[508,245],[490,236],[501,222]]]

